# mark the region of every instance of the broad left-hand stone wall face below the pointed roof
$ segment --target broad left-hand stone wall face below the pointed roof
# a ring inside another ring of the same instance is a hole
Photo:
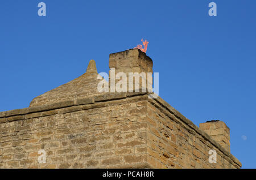
[[[2,113],[0,168],[148,168],[146,98],[104,95]]]

